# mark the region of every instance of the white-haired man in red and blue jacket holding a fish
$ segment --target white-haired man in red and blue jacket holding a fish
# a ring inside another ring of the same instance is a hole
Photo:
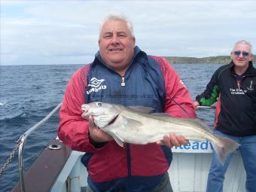
[[[196,117],[187,88],[172,66],[135,46],[133,26],[121,14],[110,14],[99,34],[94,61],[79,69],[66,88],[58,136],[73,150],[84,151],[89,191],[172,191],[167,170],[170,147],[186,145],[182,136],[164,136],[148,145],[124,148],[81,117],[89,102],[144,105],[174,117]]]

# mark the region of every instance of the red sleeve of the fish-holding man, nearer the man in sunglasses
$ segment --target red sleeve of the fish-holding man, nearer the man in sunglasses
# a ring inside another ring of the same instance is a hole
[[[166,59],[162,58],[160,65],[162,65],[166,92],[164,112],[173,117],[197,117],[190,93],[177,72]]]

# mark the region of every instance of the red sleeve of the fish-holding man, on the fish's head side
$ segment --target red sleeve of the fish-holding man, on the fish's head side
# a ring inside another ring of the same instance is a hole
[[[72,76],[59,110],[58,136],[69,148],[93,153],[96,148],[89,142],[89,123],[81,117],[84,104],[84,90],[87,88],[88,66],[79,69]]]

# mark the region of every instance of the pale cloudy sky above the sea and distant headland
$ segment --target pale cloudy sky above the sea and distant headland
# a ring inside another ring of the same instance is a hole
[[[0,0],[0,65],[84,64],[111,11],[133,22],[136,45],[157,56],[230,55],[256,46],[256,1]]]

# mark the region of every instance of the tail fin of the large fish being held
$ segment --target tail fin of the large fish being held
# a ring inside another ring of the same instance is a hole
[[[215,135],[216,136],[216,135]],[[216,136],[218,140],[221,142],[221,145],[218,143],[213,145],[216,154],[218,155],[221,164],[224,165],[227,156],[233,151],[236,151],[236,148],[239,148],[239,143],[233,141],[232,139],[223,137],[223,136]]]

